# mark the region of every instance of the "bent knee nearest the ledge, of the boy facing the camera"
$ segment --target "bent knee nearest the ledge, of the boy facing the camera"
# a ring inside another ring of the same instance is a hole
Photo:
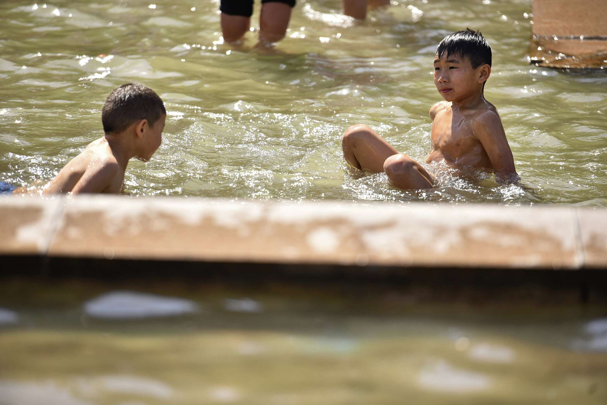
[[[412,158],[399,153],[388,157],[384,171],[396,187],[403,190],[433,188],[433,177]]]

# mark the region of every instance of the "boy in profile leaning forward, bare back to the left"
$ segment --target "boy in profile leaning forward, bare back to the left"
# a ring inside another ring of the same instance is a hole
[[[42,194],[121,192],[129,159],[152,157],[165,119],[164,104],[149,87],[128,83],[112,90],[101,112],[105,135],[70,160]]]

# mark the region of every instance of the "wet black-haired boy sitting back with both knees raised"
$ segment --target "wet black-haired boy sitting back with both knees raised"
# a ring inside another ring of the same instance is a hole
[[[518,180],[497,109],[483,96],[491,73],[491,48],[480,32],[461,30],[438,44],[434,84],[445,101],[430,108],[432,151],[426,163],[444,160],[455,169],[481,168],[498,180]],[[384,172],[401,189],[433,188],[435,179],[364,124],[342,138],[344,158],[358,169]]]

